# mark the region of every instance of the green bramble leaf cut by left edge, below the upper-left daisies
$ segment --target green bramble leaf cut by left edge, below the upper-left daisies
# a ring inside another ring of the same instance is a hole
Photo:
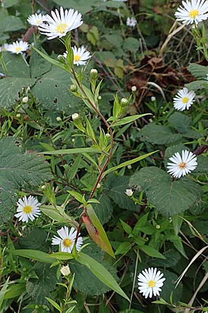
[[[6,77],[0,80],[0,108],[10,109],[19,98],[22,88],[31,87],[35,79]]]

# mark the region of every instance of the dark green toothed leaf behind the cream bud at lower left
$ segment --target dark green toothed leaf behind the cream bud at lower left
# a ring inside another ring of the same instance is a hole
[[[45,297],[50,297],[50,292],[55,289],[58,282],[56,278],[56,268],[50,268],[49,264],[37,262],[33,268],[37,278],[32,278],[26,282],[26,291],[31,299],[37,304],[47,304]]]

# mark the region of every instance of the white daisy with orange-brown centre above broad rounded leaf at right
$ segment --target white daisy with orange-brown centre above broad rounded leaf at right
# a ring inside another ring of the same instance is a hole
[[[188,150],[182,151],[182,157],[176,152],[169,160],[173,163],[168,162],[168,172],[176,178],[187,175],[191,170],[195,170],[198,165],[196,154]]]

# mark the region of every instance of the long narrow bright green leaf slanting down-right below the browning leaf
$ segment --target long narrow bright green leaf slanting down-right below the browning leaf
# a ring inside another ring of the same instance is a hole
[[[101,282],[106,284],[108,287],[110,287],[110,289],[114,290],[117,294],[129,301],[128,296],[126,296],[119,284],[103,265],[98,263],[92,257],[89,257],[89,255],[85,255],[83,252],[78,254],[77,262],[87,266],[87,268],[89,268],[90,271],[92,271],[92,273],[94,273],[94,275],[96,275],[96,277],[101,280]]]

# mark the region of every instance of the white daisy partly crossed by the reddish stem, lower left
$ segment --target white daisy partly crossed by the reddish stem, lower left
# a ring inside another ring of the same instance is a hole
[[[76,230],[74,227],[71,227],[69,232],[69,228],[67,226],[62,227],[57,231],[59,236],[53,236],[52,245],[60,245],[62,252],[71,253],[73,249],[73,243],[76,239]],[[81,246],[83,245],[83,237],[78,237],[78,241],[76,243],[76,250],[80,251]]]

